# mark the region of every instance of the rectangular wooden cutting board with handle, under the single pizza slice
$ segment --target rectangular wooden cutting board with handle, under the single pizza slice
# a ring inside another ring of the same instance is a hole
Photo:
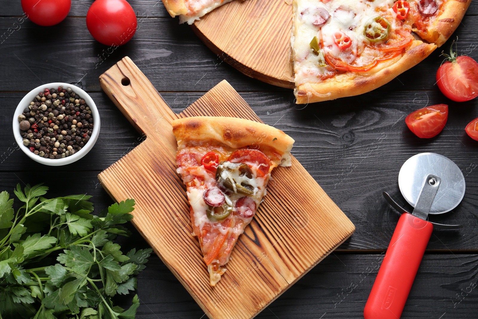
[[[226,82],[175,114],[129,57],[99,77],[101,88],[146,140],[98,175],[116,201],[136,200],[132,223],[211,319],[256,316],[355,230],[295,158],[272,173],[265,201],[239,237],[216,287],[191,236],[185,187],[176,174],[171,122],[188,116],[259,121]]]

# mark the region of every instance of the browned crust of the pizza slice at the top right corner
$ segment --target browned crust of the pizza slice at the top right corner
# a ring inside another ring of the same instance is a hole
[[[415,29],[413,31],[422,39],[440,47],[455,32],[470,3],[471,0],[447,0],[440,10],[441,13],[435,17],[426,32]]]

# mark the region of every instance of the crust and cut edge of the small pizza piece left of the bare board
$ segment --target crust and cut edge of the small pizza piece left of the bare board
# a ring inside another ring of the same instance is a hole
[[[226,4],[231,1],[232,0],[213,0],[211,5],[198,8],[197,12],[192,11],[187,6],[187,0],[163,0],[163,4],[168,13],[173,18],[177,15],[179,16],[179,23],[187,22],[188,24],[193,24],[195,21],[203,17],[206,13],[209,13],[217,7],[220,7],[223,4]]]

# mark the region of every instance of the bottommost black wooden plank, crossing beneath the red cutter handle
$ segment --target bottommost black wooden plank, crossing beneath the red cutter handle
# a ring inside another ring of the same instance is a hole
[[[381,257],[331,255],[256,318],[361,319]],[[477,263],[478,255],[425,254],[402,319],[476,318]],[[137,319],[199,319],[204,314],[159,258],[150,259],[138,283]]]

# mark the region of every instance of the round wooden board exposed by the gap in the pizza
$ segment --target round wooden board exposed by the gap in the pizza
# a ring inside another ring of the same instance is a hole
[[[236,0],[196,21],[193,30],[222,60],[245,75],[293,88],[292,5],[284,0]]]

